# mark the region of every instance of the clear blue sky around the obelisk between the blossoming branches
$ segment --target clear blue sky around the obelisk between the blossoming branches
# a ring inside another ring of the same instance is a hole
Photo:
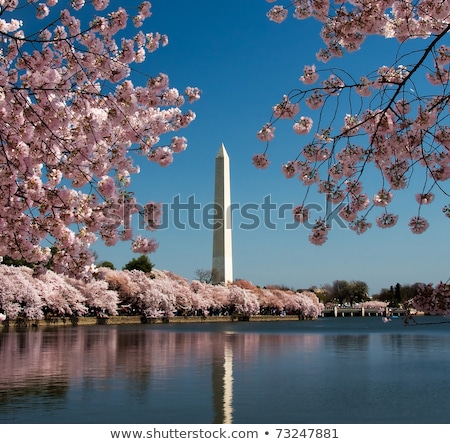
[[[281,164],[295,158],[301,146],[299,136],[289,129],[292,123],[277,125],[269,169],[256,170],[251,158],[264,149],[256,132],[270,118],[272,105],[283,93],[300,87],[303,66],[315,62],[314,55],[322,46],[319,25],[292,18],[281,25],[270,22],[266,12],[271,5],[264,0],[153,0],[152,5],[153,16],[144,31],[167,34],[169,45],[149,55],[138,68],[150,75],[167,73],[171,86],[179,90],[198,86],[202,98],[191,107],[197,119],[179,133],[188,138],[187,151],[176,155],[168,168],[137,160],[141,173],[133,176],[130,189],[138,201],[170,204],[178,196],[186,203],[192,196],[201,207],[193,213],[194,222],[202,225],[202,209],[213,201],[214,160],[223,143],[230,156],[233,203],[241,208],[261,206],[267,196],[277,208],[300,203],[306,189],[297,179],[287,180],[281,174]],[[372,40],[363,47],[364,52],[338,62],[359,77],[369,70],[366,65],[373,69],[390,64],[392,60],[382,56],[392,53],[395,45],[395,41]],[[379,185],[365,191],[372,197]],[[294,288],[337,279],[362,280],[369,285],[370,294],[397,282],[445,281],[450,276],[450,220],[441,208],[449,199],[438,197],[424,208],[422,215],[428,218],[430,228],[414,235],[407,224],[415,215],[414,193],[418,191],[406,190],[396,197],[393,210],[400,215],[396,227],[374,227],[362,236],[334,227],[328,242],[320,247],[309,243],[306,229],[285,229],[291,222],[289,211],[284,219],[278,219],[273,211],[270,222],[275,228],[251,230],[240,226],[251,221],[234,213],[234,276],[256,285]],[[310,201],[323,205],[323,197],[314,194]],[[263,215],[254,210],[252,214]],[[187,213],[181,213],[183,221],[187,222]],[[179,229],[172,222],[154,233],[160,246],[150,259],[158,269],[193,279],[196,269],[211,268],[212,231],[206,227]],[[112,248],[95,245],[94,250],[99,260],[110,260],[118,268],[135,257],[128,243]]]

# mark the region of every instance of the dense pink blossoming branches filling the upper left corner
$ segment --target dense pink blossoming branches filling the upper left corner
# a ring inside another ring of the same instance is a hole
[[[194,120],[181,108],[199,90],[181,94],[162,73],[134,85],[132,67],[168,41],[138,30],[150,15],[147,1],[133,16],[109,0],[0,1],[0,256],[51,258],[79,277],[97,235],[155,250],[128,223],[141,211],[153,230],[161,213],[127,190],[139,172],[132,154],[169,165],[186,139],[162,136]]]

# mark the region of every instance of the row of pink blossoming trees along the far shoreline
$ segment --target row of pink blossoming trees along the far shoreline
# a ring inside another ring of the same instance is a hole
[[[189,281],[168,271],[98,268],[83,281],[27,267],[0,265],[0,319],[48,316],[128,314],[161,318],[190,314],[297,314],[317,318],[323,309],[317,296],[278,288],[258,288],[248,281],[227,286]]]

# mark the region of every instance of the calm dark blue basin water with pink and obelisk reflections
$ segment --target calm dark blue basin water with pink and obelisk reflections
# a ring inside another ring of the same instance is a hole
[[[10,329],[0,423],[447,424],[450,323],[417,320]]]

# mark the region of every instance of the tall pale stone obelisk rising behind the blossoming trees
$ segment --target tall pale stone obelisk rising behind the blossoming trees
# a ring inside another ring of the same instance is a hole
[[[226,285],[233,281],[233,256],[231,245],[230,158],[223,144],[216,156],[214,204],[212,283],[224,283]]]

